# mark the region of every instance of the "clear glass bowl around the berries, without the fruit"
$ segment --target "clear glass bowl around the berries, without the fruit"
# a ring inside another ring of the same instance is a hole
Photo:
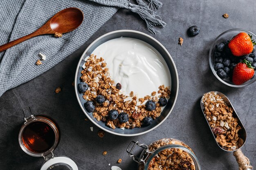
[[[209,64],[210,64],[211,71],[213,72],[215,77],[217,77],[217,79],[220,80],[220,82],[222,82],[223,84],[226,84],[227,86],[231,86],[231,87],[245,87],[245,86],[252,84],[253,82],[256,81],[256,76],[254,76],[253,79],[248,80],[244,84],[236,85],[233,82],[230,82],[229,78],[227,78],[227,77],[225,79],[221,79],[217,75],[217,71],[214,70],[214,60],[215,60],[214,51],[215,51],[216,44],[219,44],[220,42],[223,42],[224,40],[231,40],[235,35],[237,35],[238,33],[241,33],[241,32],[245,32],[245,33],[252,35],[252,39],[256,40],[256,35],[254,35],[254,33],[250,32],[250,31],[247,31],[245,29],[230,29],[230,30],[225,31],[224,33],[221,33],[215,39],[215,41],[211,45],[211,48],[209,51]]]

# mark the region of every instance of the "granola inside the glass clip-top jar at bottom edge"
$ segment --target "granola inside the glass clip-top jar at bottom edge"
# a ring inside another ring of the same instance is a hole
[[[188,148],[186,144],[176,139],[160,139],[149,146],[150,151],[169,144]],[[193,150],[191,150],[193,152]],[[148,170],[195,170],[195,163],[190,155],[182,149],[168,148],[159,152],[151,161]]]

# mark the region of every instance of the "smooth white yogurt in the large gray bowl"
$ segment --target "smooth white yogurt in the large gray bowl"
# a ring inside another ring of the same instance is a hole
[[[135,38],[115,38],[99,45],[92,54],[103,57],[121,91],[139,97],[151,95],[161,85],[170,86],[171,74],[162,55],[150,44]]]

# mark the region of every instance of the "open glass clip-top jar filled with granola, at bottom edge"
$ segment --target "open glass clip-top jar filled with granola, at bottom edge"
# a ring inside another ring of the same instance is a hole
[[[132,154],[135,146],[143,148],[139,157]],[[132,141],[127,152],[139,170],[201,170],[193,150],[177,139],[164,138],[149,146]]]

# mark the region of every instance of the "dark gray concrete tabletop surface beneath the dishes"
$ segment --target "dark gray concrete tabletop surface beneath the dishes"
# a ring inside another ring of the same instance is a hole
[[[144,21],[133,13],[120,9],[79,50],[43,75],[4,93],[0,97],[0,170],[38,170],[43,158],[31,157],[20,149],[18,132],[23,122],[22,109],[30,106],[34,114],[50,115],[61,128],[61,141],[55,155],[73,159],[79,170],[136,170],[126,153],[130,141],[151,142],[173,137],[188,144],[196,153],[202,170],[238,170],[232,153],[218,148],[207,127],[200,108],[200,97],[208,91],[227,95],[247,129],[247,142],[242,150],[256,167],[256,83],[245,88],[231,88],[218,81],[208,63],[209,46],[222,32],[243,28],[256,32],[256,4],[254,0],[162,0],[157,11],[167,23],[161,33],[152,35],[169,51],[180,80],[176,105],[168,119],[157,129],[137,137],[119,137],[107,133],[99,138],[99,128],[85,121],[76,100],[74,75],[83,51],[99,36],[119,29],[133,29],[151,35]],[[228,13],[225,19],[222,14]],[[192,26],[201,32],[193,38],[186,35]],[[184,39],[182,46],[178,38]],[[56,87],[62,91],[55,94]],[[94,130],[91,132],[90,127]],[[108,154],[102,155],[106,150]],[[121,164],[117,160],[123,159]]]

